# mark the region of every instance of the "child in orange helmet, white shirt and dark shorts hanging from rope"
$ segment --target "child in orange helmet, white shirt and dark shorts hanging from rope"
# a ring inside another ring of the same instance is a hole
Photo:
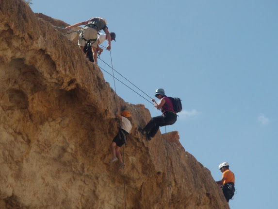
[[[128,110],[124,110],[121,115],[117,113],[116,117],[118,117],[121,120],[121,127],[119,133],[114,137],[110,145],[113,157],[110,159],[109,162],[114,162],[116,160],[119,160],[120,162],[119,169],[122,169],[124,167],[124,163],[122,160],[120,149],[123,144],[127,143],[127,137],[131,132],[132,125],[128,119],[129,117],[131,117],[131,112]]]

